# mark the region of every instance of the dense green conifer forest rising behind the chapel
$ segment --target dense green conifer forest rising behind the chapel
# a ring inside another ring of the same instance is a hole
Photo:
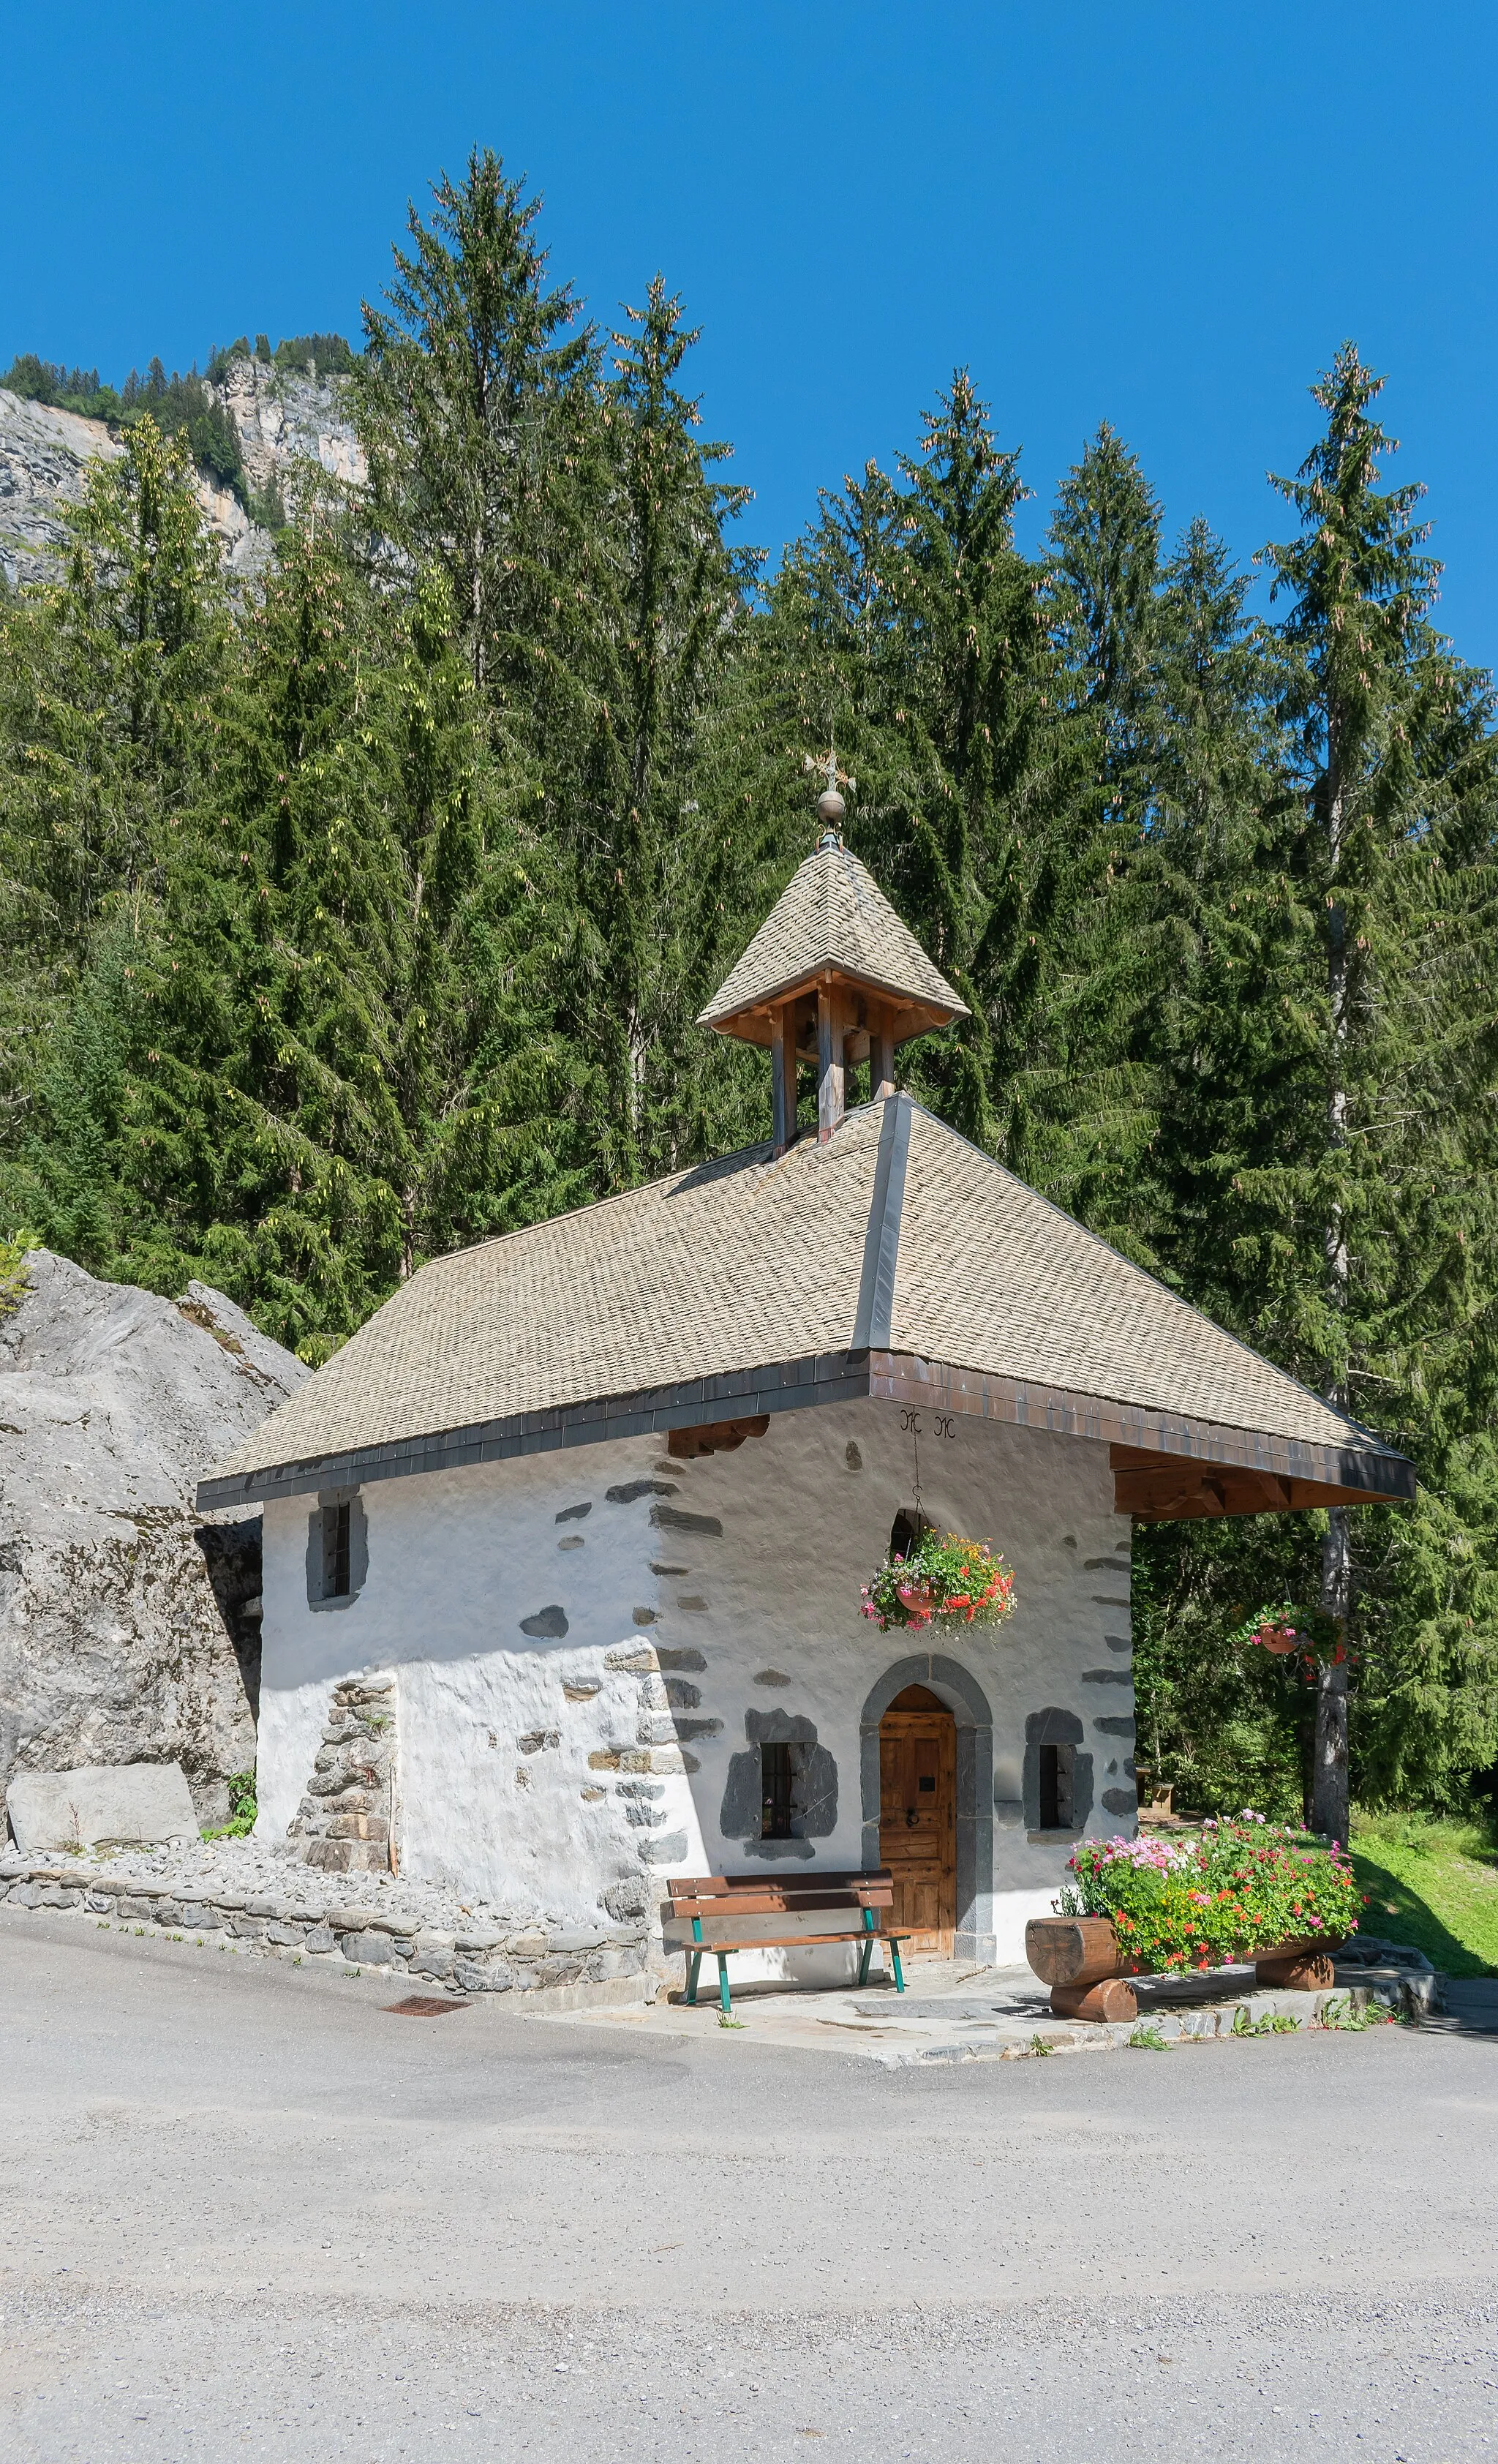
[[[695,1015],[835,747],[971,1008],[902,1084],[1419,1469],[1414,1506],[1138,1525],[1141,1762],[1298,1814],[1313,1695],[1229,1636],[1330,1582],[1353,1794],[1468,1804],[1498,734],[1380,375],[1306,370],[1257,569],[1170,537],[1109,426],[1022,554],[963,370],[771,559],[692,342],[663,278],[594,323],[476,153],[345,352],[367,485],[303,488],[234,589],[207,414],[138,387],[62,579],[0,589],[0,1230],[320,1363],[424,1259],[766,1138],[761,1055]]]

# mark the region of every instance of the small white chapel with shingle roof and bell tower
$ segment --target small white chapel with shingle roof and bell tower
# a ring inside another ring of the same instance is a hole
[[[700,1020],[769,1050],[771,1138],[434,1259],[214,1466],[264,1503],[261,1831],[579,1922],[889,1865],[917,1949],[998,1964],[1133,1831],[1133,1518],[1414,1473],[897,1089],[958,1015],[828,825]],[[862,1614],[921,1520],[1003,1550],[1003,1624]],[[389,1777],[310,1791],[357,1676]]]

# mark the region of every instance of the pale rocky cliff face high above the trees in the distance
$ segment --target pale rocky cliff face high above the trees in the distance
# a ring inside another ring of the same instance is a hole
[[[232,360],[212,392],[234,421],[251,488],[276,485],[286,510],[313,473],[340,485],[362,483],[365,456],[338,377]],[[0,387],[0,569],[12,589],[57,579],[67,552],[62,508],[84,495],[91,461],[111,461],[121,451],[118,436],[101,419],[22,402]],[[197,476],[197,500],[229,574],[259,574],[271,535],[207,471]]]

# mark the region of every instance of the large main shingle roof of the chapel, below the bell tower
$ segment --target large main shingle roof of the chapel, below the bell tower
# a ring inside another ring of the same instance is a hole
[[[1239,1466],[1269,1506],[1323,1503],[1284,1483],[1414,1488],[1387,1444],[902,1094],[828,1143],[747,1148],[434,1259],[200,1506],[850,1395]]]

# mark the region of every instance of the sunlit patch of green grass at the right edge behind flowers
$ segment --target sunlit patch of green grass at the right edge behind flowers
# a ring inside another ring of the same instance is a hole
[[[1353,1811],[1365,1934],[1412,1942],[1449,1976],[1498,1974],[1498,1848],[1478,1823]]]

